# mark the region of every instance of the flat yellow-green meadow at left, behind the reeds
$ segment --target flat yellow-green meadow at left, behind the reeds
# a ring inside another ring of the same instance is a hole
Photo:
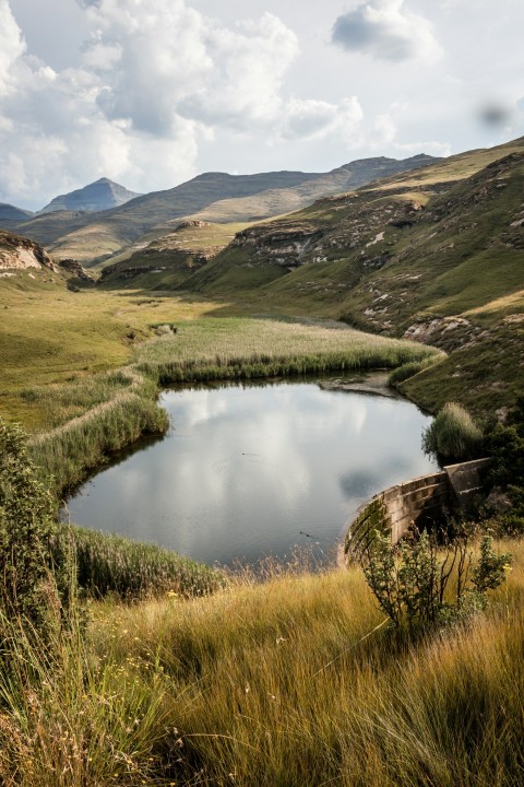
[[[135,342],[153,334],[151,325],[209,309],[203,298],[174,302],[136,293],[75,293],[66,290],[62,280],[44,281],[48,273],[33,275],[0,281],[0,414],[32,430],[53,426],[53,402],[62,407],[58,391],[51,388],[43,397],[38,389],[64,386],[71,391],[68,398],[81,408],[83,397],[71,389],[85,386],[93,374],[129,363]],[[97,403],[90,396],[86,401]],[[79,412],[67,410],[68,414]]]

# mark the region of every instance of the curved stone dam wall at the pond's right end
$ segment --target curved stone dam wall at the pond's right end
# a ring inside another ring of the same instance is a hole
[[[483,489],[489,459],[450,465],[379,492],[358,510],[349,525],[345,553],[356,553],[372,530],[389,530],[397,543],[412,524],[419,529],[442,521],[445,514],[464,510]]]

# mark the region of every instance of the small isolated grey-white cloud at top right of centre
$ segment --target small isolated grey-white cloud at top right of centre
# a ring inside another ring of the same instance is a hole
[[[442,49],[431,24],[405,8],[404,0],[365,2],[338,16],[332,40],[378,60],[438,60]]]

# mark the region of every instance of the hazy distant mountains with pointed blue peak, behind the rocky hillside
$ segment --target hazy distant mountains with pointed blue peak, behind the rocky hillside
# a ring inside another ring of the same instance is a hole
[[[108,191],[115,193],[108,186],[111,181],[103,178],[78,192],[51,200],[44,211],[16,226],[11,224],[10,228],[43,243],[57,259],[72,258],[92,265],[133,245],[143,247],[175,230],[181,221],[260,221],[298,210],[320,197],[355,189],[437,161],[427,155],[403,161],[381,156],[355,161],[330,173],[205,173],[172,189],[129,199],[95,215],[82,212],[86,204],[94,204],[86,191],[95,186],[95,191],[102,189],[106,195]],[[118,188],[131,193],[123,187]],[[52,205],[55,208],[49,212],[48,208]]]

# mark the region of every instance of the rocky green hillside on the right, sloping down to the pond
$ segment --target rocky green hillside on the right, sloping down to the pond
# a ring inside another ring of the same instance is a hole
[[[270,223],[258,245],[225,249],[186,286],[243,313],[342,315],[397,336],[417,321],[461,315],[468,332],[429,339],[461,352],[404,390],[431,410],[458,398],[488,414],[511,404],[524,383],[523,150],[516,140],[321,200]],[[272,261],[270,236],[297,226],[323,237],[288,272]]]

